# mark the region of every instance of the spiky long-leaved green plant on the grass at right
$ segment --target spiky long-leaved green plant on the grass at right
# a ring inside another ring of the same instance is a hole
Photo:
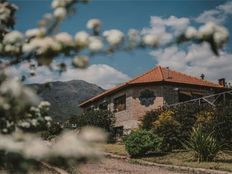
[[[212,161],[220,151],[220,145],[213,133],[206,133],[202,127],[193,128],[191,137],[184,146],[194,153],[198,162]]]

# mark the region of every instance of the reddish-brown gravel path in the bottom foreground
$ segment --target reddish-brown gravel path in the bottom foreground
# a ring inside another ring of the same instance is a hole
[[[153,166],[132,164],[125,160],[105,158],[98,163],[79,166],[81,174],[181,174]]]

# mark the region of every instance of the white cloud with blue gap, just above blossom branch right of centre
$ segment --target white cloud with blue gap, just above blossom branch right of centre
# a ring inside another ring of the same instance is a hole
[[[188,18],[177,18],[175,16],[170,16],[169,18],[161,18],[157,16],[152,16],[151,27],[144,28],[142,34],[153,34],[156,35],[161,44],[166,44],[170,42],[175,35],[183,32],[190,21]]]

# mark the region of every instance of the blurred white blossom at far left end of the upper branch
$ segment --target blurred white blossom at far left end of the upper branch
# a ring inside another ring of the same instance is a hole
[[[4,44],[16,44],[21,43],[24,40],[24,36],[22,33],[18,31],[12,31],[5,35],[3,39]]]

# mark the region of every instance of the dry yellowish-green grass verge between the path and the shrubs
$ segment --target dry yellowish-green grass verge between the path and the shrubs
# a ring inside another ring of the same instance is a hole
[[[104,144],[102,145],[106,152],[114,153],[117,155],[127,155],[125,146],[119,144]],[[194,160],[193,154],[186,151],[174,151],[171,153],[150,154],[140,159],[160,163],[171,164],[177,166],[186,166],[194,168],[205,168],[214,170],[223,170],[232,172],[232,152],[221,152],[218,154],[214,162],[199,163]]]

